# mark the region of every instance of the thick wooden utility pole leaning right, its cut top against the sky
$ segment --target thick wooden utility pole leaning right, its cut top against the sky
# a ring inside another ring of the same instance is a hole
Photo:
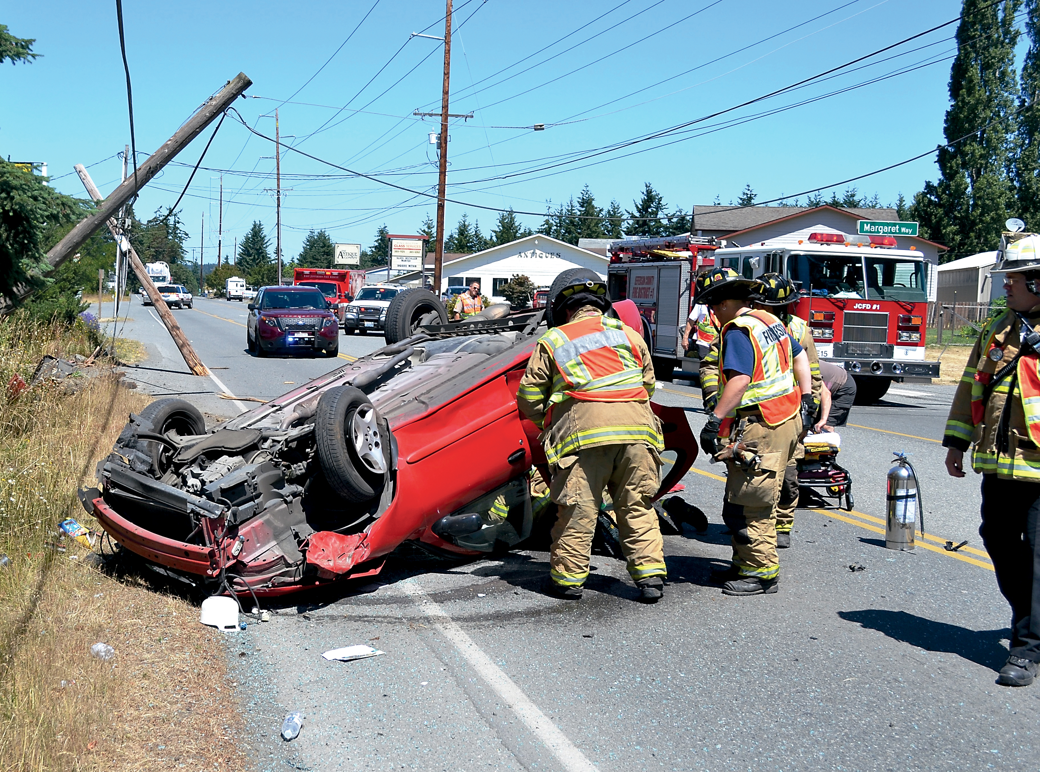
[[[76,254],[86,240],[94,233],[102,228],[124,204],[127,204],[140,188],[148,184],[159,170],[172,161],[178,153],[187,147],[188,142],[209,126],[214,118],[223,113],[231,104],[242,95],[242,92],[253,84],[244,73],[239,73],[234,80],[228,81],[227,85],[217,91],[213,97],[206,100],[206,104],[189,117],[177,133],[163,142],[162,147],[153,153],[145,163],[137,167],[137,174],[128,177],[122,185],[105,198],[94,214],[88,215],[69,232],[69,234],[55,244],[47,252],[47,262],[51,270],[57,268],[67,259]],[[30,287],[19,287],[15,290],[14,298],[19,300],[32,292]],[[14,308],[14,302],[6,300],[0,302],[0,313]]]

